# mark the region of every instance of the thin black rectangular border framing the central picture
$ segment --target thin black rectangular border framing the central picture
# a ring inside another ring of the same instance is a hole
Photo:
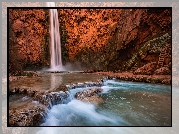
[[[9,125],[9,9],[171,9],[171,66],[172,66],[172,7],[7,7],[7,127],[172,127],[172,69],[171,69],[171,126],[10,126]]]

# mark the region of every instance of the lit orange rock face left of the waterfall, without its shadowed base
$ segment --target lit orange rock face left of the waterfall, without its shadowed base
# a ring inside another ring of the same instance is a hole
[[[45,35],[48,35],[48,15],[43,9],[11,9],[9,11],[10,30],[13,46],[23,62],[42,62]],[[12,45],[12,44],[10,44]],[[10,46],[11,47],[11,46]],[[47,62],[47,59],[43,62]]]

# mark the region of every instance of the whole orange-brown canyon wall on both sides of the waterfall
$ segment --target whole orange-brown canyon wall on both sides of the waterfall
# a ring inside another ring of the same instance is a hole
[[[58,9],[58,13],[63,64],[144,74],[171,68],[171,9]],[[49,65],[49,11],[13,9],[9,18],[11,57],[15,47],[24,68]]]

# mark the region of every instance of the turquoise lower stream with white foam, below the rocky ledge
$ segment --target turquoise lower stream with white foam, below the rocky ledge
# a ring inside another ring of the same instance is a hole
[[[102,104],[69,98],[52,107],[41,126],[171,126],[171,87],[107,80],[99,96]]]

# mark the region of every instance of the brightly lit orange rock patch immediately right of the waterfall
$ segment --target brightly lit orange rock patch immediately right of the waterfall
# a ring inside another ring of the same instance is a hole
[[[114,35],[121,9],[65,9],[59,10],[60,22],[68,32],[66,47],[70,60],[85,47],[99,52]]]

